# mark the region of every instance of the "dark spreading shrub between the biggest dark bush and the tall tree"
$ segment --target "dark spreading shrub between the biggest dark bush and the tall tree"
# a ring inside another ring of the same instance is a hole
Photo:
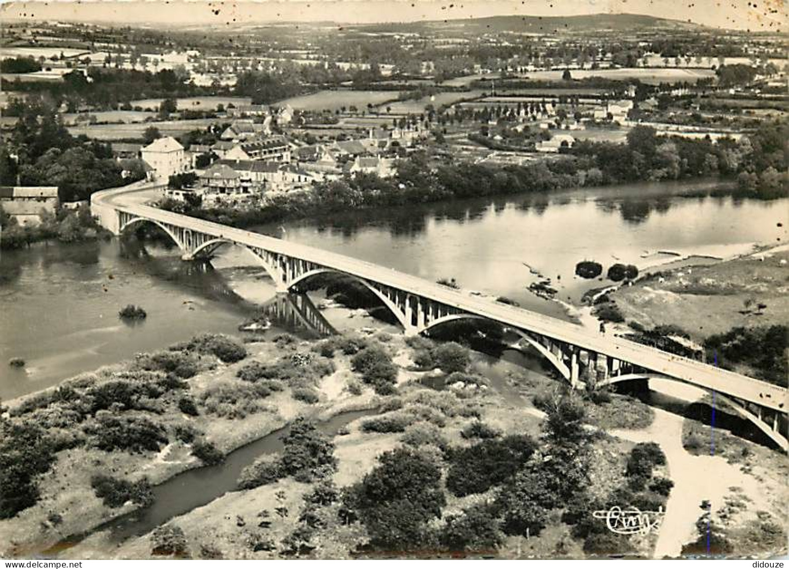
[[[447,489],[455,496],[468,496],[502,484],[532,456],[536,444],[531,437],[510,435],[480,441],[466,448],[451,448]]]

